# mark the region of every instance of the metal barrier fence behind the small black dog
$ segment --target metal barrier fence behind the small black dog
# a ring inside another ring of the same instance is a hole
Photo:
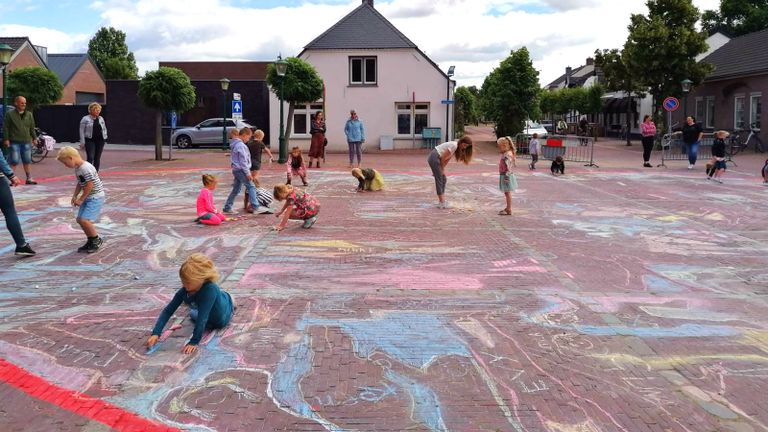
[[[531,137],[525,134],[515,136],[515,147],[518,157],[530,158],[528,145]],[[562,156],[564,161],[581,162],[584,166],[599,166],[595,163],[595,139],[577,135],[550,135],[539,138],[539,158],[554,160]]]

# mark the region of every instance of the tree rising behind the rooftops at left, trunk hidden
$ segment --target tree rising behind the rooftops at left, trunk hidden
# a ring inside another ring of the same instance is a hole
[[[106,79],[136,79],[138,68],[128,51],[125,33],[114,27],[102,27],[88,42],[88,55]]]

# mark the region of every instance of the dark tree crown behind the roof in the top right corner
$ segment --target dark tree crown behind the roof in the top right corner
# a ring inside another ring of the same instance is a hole
[[[720,10],[708,10],[701,17],[707,34],[723,32],[741,36],[768,28],[768,0],[720,0]]]

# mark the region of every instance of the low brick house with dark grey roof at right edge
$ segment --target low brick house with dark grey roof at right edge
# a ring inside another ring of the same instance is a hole
[[[763,95],[768,95],[768,29],[729,40],[702,61],[714,66],[704,82],[688,95],[688,115],[705,129],[760,130],[768,121]],[[675,112],[682,124],[686,113]],[[765,141],[768,136],[760,131]]]

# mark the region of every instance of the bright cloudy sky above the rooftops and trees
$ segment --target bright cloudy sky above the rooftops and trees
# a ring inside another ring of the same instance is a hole
[[[693,0],[716,9],[719,0]],[[272,60],[304,45],[360,0],[15,0],[0,3],[0,35],[29,36],[50,53],[85,52],[102,26],[126,32],[140,71],[160,60]],[[376,0],[376,9],[459,85],[480,86],[528,47],[543,84],[595,49],[619,48],[644,0]]]

